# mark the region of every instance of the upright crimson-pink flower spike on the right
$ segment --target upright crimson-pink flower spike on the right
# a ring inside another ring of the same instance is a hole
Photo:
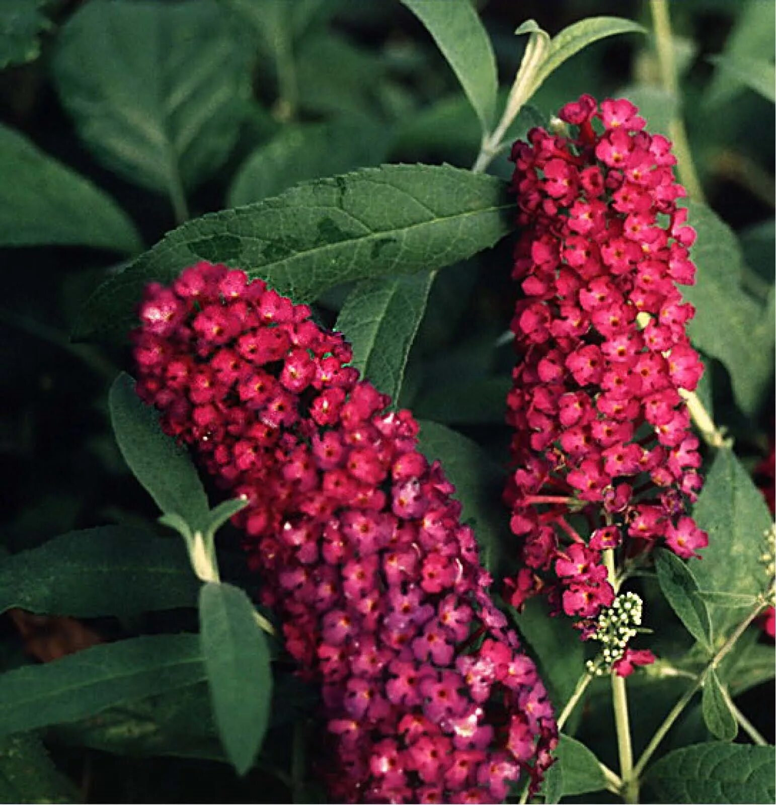
[[[602,551],[627,540],[630,555],[661,543],[688,558],[708,543],[685,514],[701,478],[680,396],[703,369],[676,287],[694,283],[696,233],[671,142],[626,100],[585,95],[560,121],[512,151],[522,299],[505,498],[524,567],[507,593],[520,606],[546,592],[585,634],[613,603]]]

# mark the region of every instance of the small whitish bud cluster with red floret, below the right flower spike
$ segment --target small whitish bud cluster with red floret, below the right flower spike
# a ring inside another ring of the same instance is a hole
[[[602,676],[615,671],[620,676],[628,676],[634,665],[654,662],[651,651],[628,648],[630,640],[640,631],[642,608],[641,597],[635,592],[625,592],[617,596],[610,607],[598,613],[588,639],[600,642],[603,648],[599,657],[588,660],[591,674]]]

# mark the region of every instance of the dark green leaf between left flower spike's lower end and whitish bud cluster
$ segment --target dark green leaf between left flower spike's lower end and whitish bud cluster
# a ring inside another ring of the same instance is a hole
[[[533,650],[556,712],[572,697],[584,674],[584,646],[568,618],[550,617],[547,604],[531,598],[521,612],[511,609],[520,634]]]

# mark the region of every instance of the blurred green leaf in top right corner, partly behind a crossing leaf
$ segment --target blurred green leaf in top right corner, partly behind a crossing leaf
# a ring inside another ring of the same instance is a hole
[[[772,60],[774,58],[774,7],[762,0],[736,4],[737,20],[724,43],[722,55],[737,58]],[[704,105],[716,106],[729,101],[744,85],[730,72],[716,71],[704,93]]]

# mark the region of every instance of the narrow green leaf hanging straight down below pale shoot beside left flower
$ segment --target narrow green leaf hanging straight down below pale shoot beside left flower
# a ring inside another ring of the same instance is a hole
[[[231,584],[204,584],[200,634],[218,732],[237,774],[246,774],[270,721],[272,671],[254,605]]]

